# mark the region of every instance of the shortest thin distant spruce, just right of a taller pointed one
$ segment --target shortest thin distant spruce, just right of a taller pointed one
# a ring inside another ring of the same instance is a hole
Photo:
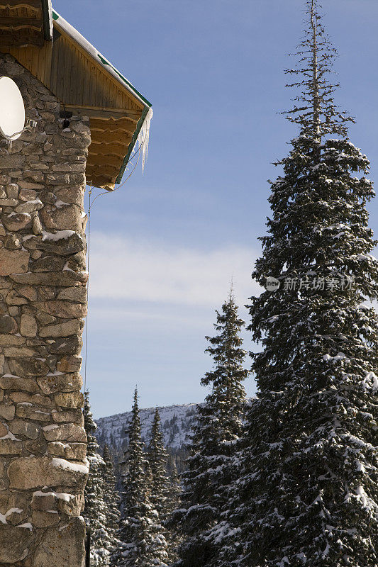
[[[159,410],[156,408],[152,420],[150,444],[148,446],[148,462],[152,475],[150,500],[162,521],[164,521],[169,512],[172,511],[167,508],[169,495],[167,460],[168,454],[163,444],[160,414]]]

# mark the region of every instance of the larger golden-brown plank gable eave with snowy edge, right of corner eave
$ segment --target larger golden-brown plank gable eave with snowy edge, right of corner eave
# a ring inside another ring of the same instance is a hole
[[[121,182],[151,104],[61,16],[52,11],[52,18],[52,42],[2,50],[60,99],[62,118],[89,116],[87,183],[112,190]]]

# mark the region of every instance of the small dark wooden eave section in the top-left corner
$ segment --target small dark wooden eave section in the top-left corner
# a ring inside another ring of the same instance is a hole
[[[47,0],[0,0],[0,50],[38,45],[51,39]]]

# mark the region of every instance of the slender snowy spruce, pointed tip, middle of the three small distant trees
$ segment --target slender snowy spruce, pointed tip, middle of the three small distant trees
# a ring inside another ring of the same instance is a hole
[[[111,560],[117,567],[166,567],[167,542],[159,515],[150,503],[152,473],[140,436],[138,391],[135,389],[123,483],[123,507],[118,530],[120,543]]]

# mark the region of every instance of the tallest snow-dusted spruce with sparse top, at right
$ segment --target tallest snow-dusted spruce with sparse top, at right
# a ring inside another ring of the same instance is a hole
[[[378,565],[378,264],[365,208],[374,191],[369,161],[348,139],[352,120],[333,101],[335,50],[319,6],[306,4],[288,71],[301,91],[288,118],[300,131],[279,162],[253,274],[281,286],[251,300],[263,349],[225,566]]]

